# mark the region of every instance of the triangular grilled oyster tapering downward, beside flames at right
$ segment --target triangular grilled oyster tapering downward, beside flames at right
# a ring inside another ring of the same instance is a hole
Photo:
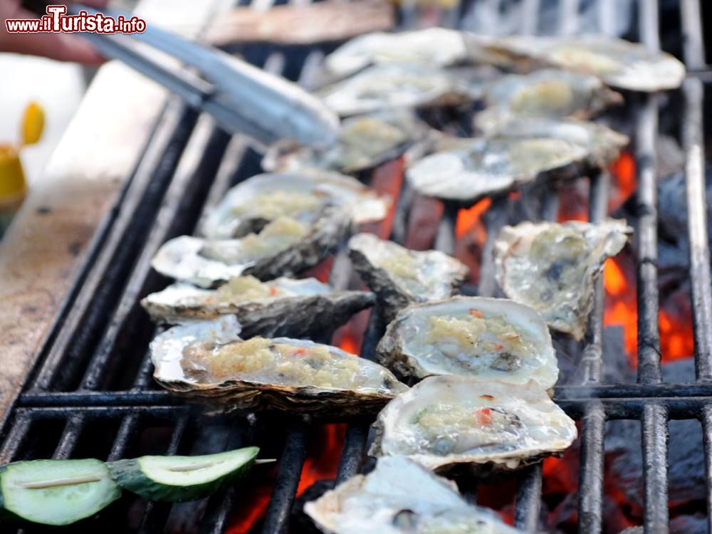
[[[603,264],[632,231],[613,219],[505,226],[494,246],[497,281],[509,298],[538,310],[551,328],[580,340]]]

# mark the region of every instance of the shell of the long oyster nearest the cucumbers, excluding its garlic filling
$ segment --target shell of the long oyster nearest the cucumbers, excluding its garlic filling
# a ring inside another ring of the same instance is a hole
[[[150,344],[154,377],[163,387],[186,397],[206,402],[216,412],[276,408],[288,412],[313,413],[324,417],[345,417],[375,412],[389,399],[407,389],[380,365],[350,355],[337,347],[307,340],[276,337],[271,344],[293,347],[300,357],[303,351],[328,349],[330,359],[348,362],[366,384],[347,389],[338,384],[316,385],[311,382],[278,382],[277,369],[235,372],[230,377],[196,378],[184,369],[184,357],[191,347],[209,343],[211,350],[221,351],[234,344],[246,343],[238,337],[239,323],[233,315],[217,320],[192,321],[169,328]],[[259,338],[253,338],[256,340]],[[248,341],[247,341],[248,342]],[[286,360],[278,360],[279,362]],[[286,378],[284,378],[286,380]]]

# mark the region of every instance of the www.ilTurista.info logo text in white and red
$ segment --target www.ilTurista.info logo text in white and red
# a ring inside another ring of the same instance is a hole
[[[79,11],[78,15],[68,15],[67,6],[47,6],[47,14],[39,19],[7,19],[8,33],[143,33],[146,21],[132,16],[130,19],[119,15],[116,18],[101,13],[90,14]]]

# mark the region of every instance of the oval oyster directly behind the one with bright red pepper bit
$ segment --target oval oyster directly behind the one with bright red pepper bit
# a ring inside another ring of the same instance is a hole
[[[543,389],[559,376],[551,335],[529,306],[504,298],[454,297],[401,310],[377,347],[402,377],[475,376]]]

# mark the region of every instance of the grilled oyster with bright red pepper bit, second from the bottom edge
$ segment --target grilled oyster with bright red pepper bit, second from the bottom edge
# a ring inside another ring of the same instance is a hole
[[[574,422],[533,382],[428,377],[378,415],[372,456],[407,456],[436,472],[513,469],[566,449]]]

